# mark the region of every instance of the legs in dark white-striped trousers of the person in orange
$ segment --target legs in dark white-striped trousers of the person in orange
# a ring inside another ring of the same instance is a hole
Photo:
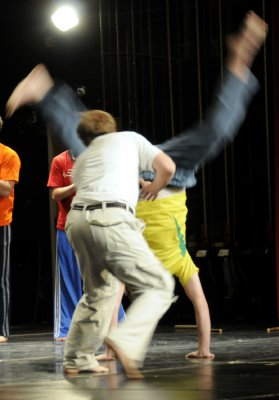
[[[10,243],[11,226],[0,226],[0,344],[10,334]]]

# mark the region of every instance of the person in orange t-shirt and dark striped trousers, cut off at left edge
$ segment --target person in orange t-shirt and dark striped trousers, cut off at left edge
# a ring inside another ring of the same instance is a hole
[[[0,117],[0,130],[3,121]],[[10,322],[10,243],[14,186],[19,180],[18,154],[0,143],[0,344],[8,341]]]

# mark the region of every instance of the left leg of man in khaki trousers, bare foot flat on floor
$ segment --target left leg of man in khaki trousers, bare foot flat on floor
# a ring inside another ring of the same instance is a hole
[[[64,371],[106,372],[106,368],[99,366],[95,353],[109,329],[119,283],[104,270],[102,248],[95,245],[84,212],[70,211],[66,233],[80,265],[84,295],[71,321],[64,351]]]

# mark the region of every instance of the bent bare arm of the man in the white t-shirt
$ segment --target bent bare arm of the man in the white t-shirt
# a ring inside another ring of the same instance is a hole
[[[155,171],[154,180],[142,186],[140,191],[144,200],[156,199],[159,191],[167,186],[175,173],[175,163],[162,151],[155,156],[152,167]]]

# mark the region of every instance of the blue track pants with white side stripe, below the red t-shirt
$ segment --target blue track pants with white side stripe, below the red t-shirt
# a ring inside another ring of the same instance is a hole
[[[82,296],[82,282],[76,256],[66,233],[57,230],[54,293],[54,338],[65,340],[76,305]]]

